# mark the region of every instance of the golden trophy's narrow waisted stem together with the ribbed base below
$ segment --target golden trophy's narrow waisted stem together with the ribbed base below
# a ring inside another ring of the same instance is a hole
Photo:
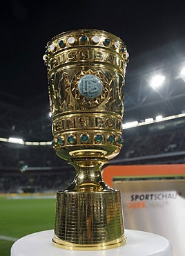
[[[67,190],[57,192],[56,246],[70,250],[101,250],[126,243],[120,192],[101,177],[102,158],[70,161],[77,171]]]

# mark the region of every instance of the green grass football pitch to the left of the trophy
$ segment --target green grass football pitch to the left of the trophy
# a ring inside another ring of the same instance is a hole
[[[0,256],[10,256],[16,239],[54,225],[55,199],[0,198]]]

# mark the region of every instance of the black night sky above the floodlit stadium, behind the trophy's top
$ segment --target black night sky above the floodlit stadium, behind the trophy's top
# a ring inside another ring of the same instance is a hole
[[[184,38],[184,1],[23,1],[1,3],[1,92],[30,99],[46,93],[42,56],[55,35],[77,28],[107,30],[132,58]],[[130,66],[131,67],[131,66]]]

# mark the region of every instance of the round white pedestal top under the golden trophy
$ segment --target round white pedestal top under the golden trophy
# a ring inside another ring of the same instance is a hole
[[[65,250],[52,244],[53,230],[33,233],[17,240],[11,256],[173,256],[170,242],[159,235],[126,230],[127,243],[108,250]]]

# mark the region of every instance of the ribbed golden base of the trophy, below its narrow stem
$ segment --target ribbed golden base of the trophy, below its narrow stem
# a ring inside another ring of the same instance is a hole
[[[57,192],[52,241],[69,250],[102,250],[125,244],[120,192]]]

